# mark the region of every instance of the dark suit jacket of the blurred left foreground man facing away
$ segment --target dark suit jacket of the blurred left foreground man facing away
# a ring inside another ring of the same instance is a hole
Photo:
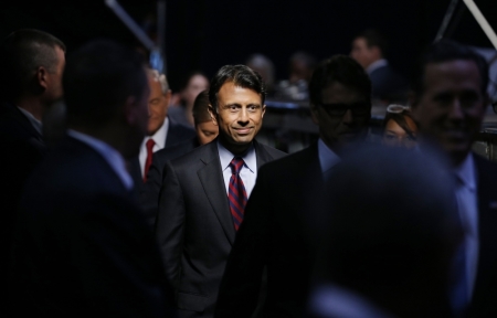
[[[162,263],[134,199],[99,153],[66,137],[22,199],[15,316],[165,317]]]

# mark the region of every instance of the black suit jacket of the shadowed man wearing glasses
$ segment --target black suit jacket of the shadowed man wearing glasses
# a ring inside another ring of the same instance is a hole
[[[311,246],[316,245],[309,233],[314,223],[306,214],[319,208],[322,186],[317,144],[260,170],[228,261],[214,317],[251,317],[265,266],[263,317],[304,317]]]

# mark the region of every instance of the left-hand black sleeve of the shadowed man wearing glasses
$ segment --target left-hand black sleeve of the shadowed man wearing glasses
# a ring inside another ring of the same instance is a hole
[[[271,200],[266,169],[260,170],[221,282],[214,317],[251,317],[268,259]]]

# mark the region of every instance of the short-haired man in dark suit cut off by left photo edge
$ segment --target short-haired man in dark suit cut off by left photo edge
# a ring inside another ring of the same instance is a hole
[[[0,271],[2,286],[7,286],[17,208],[25,180],[46,152],[41,120],[49,106],[62,96],[65,45],[49,33],[19,30],[7,36],[0,50]]]

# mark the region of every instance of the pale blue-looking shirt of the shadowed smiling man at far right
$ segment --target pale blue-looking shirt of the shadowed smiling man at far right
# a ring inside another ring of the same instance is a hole
[[[472,153],[466,157],[459,167],[454,169],[454,173],[459,179],[456,188],[456,198],[465,234],[467,296],[469,301],[475,286],[479,250],[477,180]]]

